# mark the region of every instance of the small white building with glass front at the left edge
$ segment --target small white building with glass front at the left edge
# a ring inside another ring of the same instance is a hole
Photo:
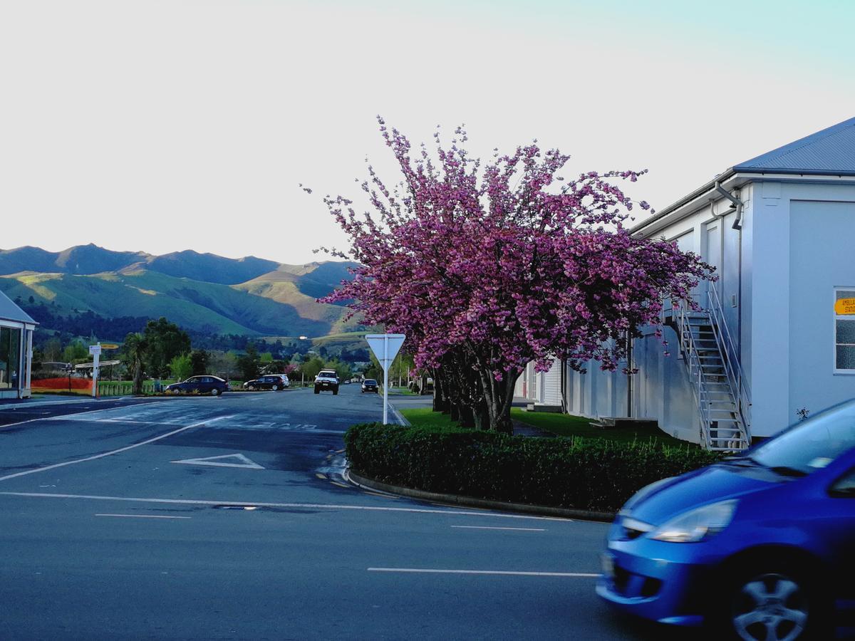
[[[0,398],[30,396],[36,321],[0,291]]]

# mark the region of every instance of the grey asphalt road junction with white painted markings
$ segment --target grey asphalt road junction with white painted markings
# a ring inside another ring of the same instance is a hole
[[[0,638],[663,638],[594,595],[604,524],[348,484],[342,434],[380,405],[0,409]]]

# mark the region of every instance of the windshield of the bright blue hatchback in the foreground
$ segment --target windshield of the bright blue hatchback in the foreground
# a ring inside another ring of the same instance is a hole
[[[855,401],[804,420],[764,444],[738,456],[765,468],[810,474],[855,447]]]

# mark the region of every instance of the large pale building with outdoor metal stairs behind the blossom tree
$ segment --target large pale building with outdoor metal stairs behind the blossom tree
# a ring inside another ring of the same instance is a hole
[[[631,389],[591,362],[527,372],[518,394],[525,382],[537,403],[722,449],[855,397],[855,118],[728,168],[633,232],[716,267],[694,294],[703,311],[674,302],[668,347],[643,329]]]

